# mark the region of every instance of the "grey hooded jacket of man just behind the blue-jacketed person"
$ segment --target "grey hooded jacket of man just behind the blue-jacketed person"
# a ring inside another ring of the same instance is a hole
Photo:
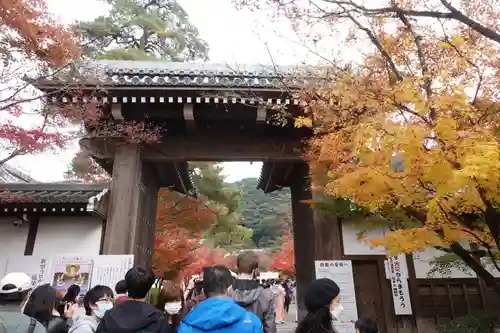
[[[262,321],[264,333],[276,333],[276,309],[273,293],[255,280],[235,280],[232,297],[240,306]]]

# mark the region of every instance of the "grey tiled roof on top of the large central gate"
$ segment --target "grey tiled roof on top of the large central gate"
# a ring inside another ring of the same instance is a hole
[[[198,88],[300,88],[324,71],[323,67],[225,65],[168,61],[99,60],[77,68],[77,75],[40,80],[35,85],[78,82],[104,86],[162,86]]]

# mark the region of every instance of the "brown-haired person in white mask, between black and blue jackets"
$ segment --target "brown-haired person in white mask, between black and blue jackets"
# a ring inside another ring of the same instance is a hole
[[[171,281],[163,283],[163,287],[158,295],[156,308],[165,311],[170,326],[169,332],[177,332],[177,328],[182,320],[182,314],[184,312],[184,302],[182,298],[183,292],[177,285]]]

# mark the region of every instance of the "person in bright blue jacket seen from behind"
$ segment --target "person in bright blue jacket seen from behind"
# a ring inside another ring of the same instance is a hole
[[[262,333],[262,322],[228,296],[233,282],[224,266],[203,269],[207,300],[196,305],[182,320],[178,333]]]

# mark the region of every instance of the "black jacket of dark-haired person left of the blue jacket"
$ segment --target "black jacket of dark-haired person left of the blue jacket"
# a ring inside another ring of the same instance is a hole
[[[96,333],[170,333],[167,318],[150,304],[128,300],[106,312]]]

